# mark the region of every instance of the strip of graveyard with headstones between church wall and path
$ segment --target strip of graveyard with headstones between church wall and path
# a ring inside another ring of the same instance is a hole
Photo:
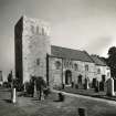
[[[62,91],[72,94],[116,101],[115,85],[113,78],[109,78],[106,82],[96,81],[92,84],[88,84],[88,82],[85,81],[85,84],[72,84],[71,86],[65,86]]]

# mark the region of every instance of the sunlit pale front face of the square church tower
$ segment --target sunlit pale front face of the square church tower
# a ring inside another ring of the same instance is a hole
[[[31,75],[46,81],[46,54],[51,54],[50,27],[48,23],[23,17],[23,82]]]

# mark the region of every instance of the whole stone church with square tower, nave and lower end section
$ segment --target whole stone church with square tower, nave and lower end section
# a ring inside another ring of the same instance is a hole
[[[60,86],[107,80],[110,70],[97,55],[51,45],[51,27],[43,20],[21,17],[14,27],[15,77],[21,83],[42,76],[48,85]]]

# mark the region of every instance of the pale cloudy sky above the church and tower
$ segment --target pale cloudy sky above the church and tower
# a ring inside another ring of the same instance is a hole
[[[51,25],[51,44],[107,56],[116,46],[116,0],[0,0],[0,70],[14,68],[14,24],[21,15]]]

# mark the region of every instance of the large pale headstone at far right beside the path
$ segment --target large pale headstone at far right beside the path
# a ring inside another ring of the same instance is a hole
[[[107,80],[107,95],[109,96],[114,96],[114,80],[113,78],[108,78]]]

